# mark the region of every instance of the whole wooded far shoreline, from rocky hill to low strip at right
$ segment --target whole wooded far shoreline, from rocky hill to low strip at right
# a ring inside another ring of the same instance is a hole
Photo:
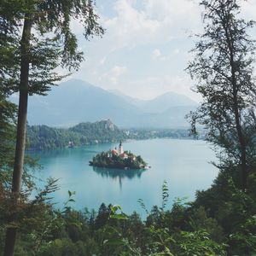
[[[71,128],[53,128],[47,125],[28,125],[28,149],[44,150],[74,147],[95,143],[118,143],[127,139],[191,138],[188,130],[119,129],[111,120],[81,123]],[[202,138],[202,135],[201,137]]]

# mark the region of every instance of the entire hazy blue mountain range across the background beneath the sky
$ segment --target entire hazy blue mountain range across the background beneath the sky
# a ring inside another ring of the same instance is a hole
[[[29,125],[71,126],[111,119],[119,127],[184,128],[188,127],[185,114],[196,106],[176,93],[143,101],[70,79],[52,87],[48,96],[31,96],[27,119]]]

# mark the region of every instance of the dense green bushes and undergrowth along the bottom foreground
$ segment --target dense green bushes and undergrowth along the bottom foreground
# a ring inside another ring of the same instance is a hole
[[[230,198],[228,201],[225,197],[214,201],[214,204],[218,203],[219,210],[213,212],[214,216],[209,216],[209,208],[199,205],[199,199],[194,203],[177,199],[168,209],[168,186],[164,182],[161,207],[153,207],[151,212],[147,212],[146,221],[142,221],[135,212],[131,216],[126,215],[118,205],[107,207],[102,204],[98,212],[86,209],[83,212],[74,211],[68,207],[73,202],[73,192],[68,191],[68,199],[62,210],[55,210],[50,205],[44,207],[44,204],[41,208],[35,208],[40,209],[38,218],[28,218],[22,224],[26,230],[20,233],[16,253],[99,256],[253,255],[256,237],[256,218],[253,214],[256,212],[255,200],[251,195],[236,189],[231,179],[228,184]],[[44,190],[43,201],[47,201],[49,195]],[[42,202],[40,198],[38,196],[37,201]],[[146,208],[143,201],[140,202]],[[228,222],[229,225],[224,225]]]

